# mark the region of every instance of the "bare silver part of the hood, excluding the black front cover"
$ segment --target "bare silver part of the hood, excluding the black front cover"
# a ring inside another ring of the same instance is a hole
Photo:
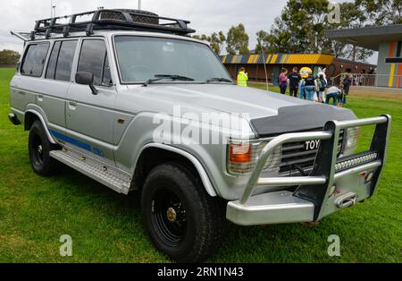
[[[137,88],[138,86],[128,86]],[[149,85],[140,87],[141,96],[158,103],[197,107],[195,111],[225,112],[250,116],[250,119],[278,115],[283,106],[308,105],[311,102],[290,98],[263,89],[227,84]]]

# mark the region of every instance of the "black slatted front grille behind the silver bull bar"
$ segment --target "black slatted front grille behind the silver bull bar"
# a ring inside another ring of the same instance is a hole
[[[343,131],[341,131],[339,134],[338,157],[342,149],[343,135]],[[306,141],[283,144],[281,148],[280,174],[301,174],[301,170],[304,173],[309,173],[313,169],[318,149],[319,147],[307,150]]]

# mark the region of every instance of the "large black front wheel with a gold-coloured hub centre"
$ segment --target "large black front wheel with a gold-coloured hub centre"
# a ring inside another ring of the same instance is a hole
[[[156,166],[142,191],[147,233],[158,250],[178,262],[200,262],[216,251],[225,228],[222,206],[175,163]]]

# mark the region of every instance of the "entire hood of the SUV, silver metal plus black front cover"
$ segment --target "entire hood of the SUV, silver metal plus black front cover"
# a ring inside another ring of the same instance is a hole
[[[132,85],[128,86],[128,91],[131,98],[135,98],[133,92],[140,95],[140,99],[145,98],[146,108],[155,106],[150,108],[154,112],[172,114],[172,108],[180,106],[181,114],[239,115],[247,119],[260,137],[318,129],[330,120],[356,119],[349,109],[228,84]],[[136,98],[137,105],[140,99]]]

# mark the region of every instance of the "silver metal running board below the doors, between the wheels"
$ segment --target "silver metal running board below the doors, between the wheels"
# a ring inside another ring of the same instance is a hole
[[[73,149],[50,151],[50,157],[87,175],[96,182],[105,184],[115,192],[129,194],[131,176],[116,167],[105,165],[101,161],[89,158]]]

